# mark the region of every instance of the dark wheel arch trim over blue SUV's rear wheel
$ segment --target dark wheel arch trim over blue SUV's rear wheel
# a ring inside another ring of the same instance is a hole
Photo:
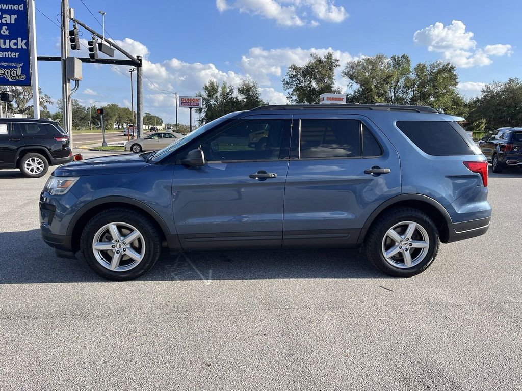
[[[373,224],[378,217],[392,209],[398,207],[414,207],[433,219],[441,242],[445,243],[448,240],[448,226],[452,224],[452,219],[449,216],[444,206],[431,197],[423,196],[422,194],[401,194],[400,196],[389,199],[379,205],[366,219],[363,228],[359,234],[357,245],[362,245],[366,238],[366,234],[370,231]]]

